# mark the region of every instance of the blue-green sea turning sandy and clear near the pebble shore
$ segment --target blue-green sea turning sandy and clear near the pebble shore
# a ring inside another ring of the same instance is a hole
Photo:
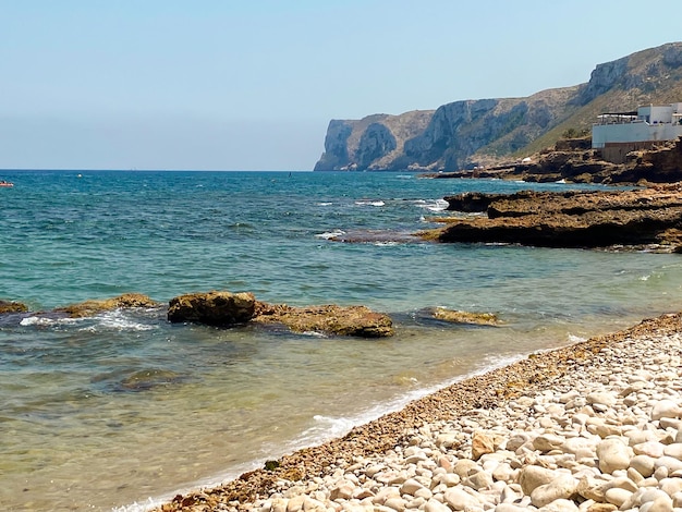
[[[682,256],[438,244],[443,197],[563,183],[391,172],[2,171],[0,508],[144,511],[531,353],[682,308]],[[586,185],[584,187],[587,187]],[[596,186],[595,186],[596,187]],[[180,294],[366,305],[383,339],[171,325]],[[137,292],[159,307],[59,306]],[[433,318],[494,313],[497,327]]]

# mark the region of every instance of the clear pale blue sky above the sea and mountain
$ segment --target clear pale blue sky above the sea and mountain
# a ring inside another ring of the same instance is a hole
[[[576,85],[682,39],[681,15],[680,0],[0,0],[0,168],[309,170],[330,119]]]

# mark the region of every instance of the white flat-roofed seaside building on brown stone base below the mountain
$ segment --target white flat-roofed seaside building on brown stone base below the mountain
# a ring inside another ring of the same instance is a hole
[[[592,126],[592,147],[601,158],[623,163],[625,155],[682,136],[682,102],[640,107],[636,112],[607,112]]]

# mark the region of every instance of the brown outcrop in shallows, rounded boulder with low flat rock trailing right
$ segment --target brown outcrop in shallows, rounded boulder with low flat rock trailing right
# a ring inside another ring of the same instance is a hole
[[[230,327],[240,324],[280,324],[294,332],[381,338],[393,334],[391,318],[365,306],[293,307],[256,301],[252,293],[211,291],[180,295],[170,301],[171,322]]]

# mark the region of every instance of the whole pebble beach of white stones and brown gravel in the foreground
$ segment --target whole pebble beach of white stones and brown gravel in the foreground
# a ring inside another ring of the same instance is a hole
[[[682,511],[682,314],[531,354],[171,511]]]

